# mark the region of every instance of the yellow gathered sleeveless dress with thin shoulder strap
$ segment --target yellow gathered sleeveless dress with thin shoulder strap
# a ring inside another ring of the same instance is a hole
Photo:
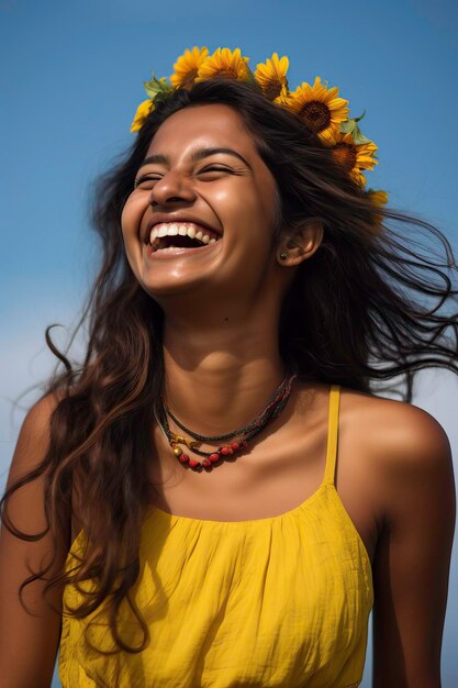
[[[107,625],[90,630],[94,650],[85,641],[91,617],[64,615],[64,688],[359,686],[373,587],[368,553],[334,486],[339,393],[333,385],[323,482],[295,509],[224,522],[152,507],[134,588],[150,643],[138,654],[104,656],[97,647],[113,648]],[[64,604],[79,595],[68,585]],[[122,637],[138,642],[132,614],[122,621]]]

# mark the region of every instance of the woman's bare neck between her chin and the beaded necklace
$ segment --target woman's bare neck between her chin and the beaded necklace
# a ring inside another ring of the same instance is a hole
[[[165,396],[172,413],[200,434],[222,434],[257,415],[284,377],[277,322],[265,314],[196,328],[166,318]]]

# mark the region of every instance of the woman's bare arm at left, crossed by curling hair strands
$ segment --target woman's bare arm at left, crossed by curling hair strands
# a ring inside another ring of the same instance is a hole
[[[22,425],[11,464],[8,485],[35,467],[48,446],[48,423],[56,401],[45,397],[29,412]],[[25,533],[45,529],[43,476],[20,488],[10,499],[8,514],[13,525]],[[0,534],[0,688],[46,688],[51,686],[60,635],[60,614],[42,598],[43,581],[26,586],[23,599],[36,617],[29,614],[19,600],[18,589],[43,559],[48,561],[51,537],[37,542],[14,537],[2,524]],[[55,573],[65,562],[58,553]],[[49,602],[62,608],[62,589],[47,593]]]

